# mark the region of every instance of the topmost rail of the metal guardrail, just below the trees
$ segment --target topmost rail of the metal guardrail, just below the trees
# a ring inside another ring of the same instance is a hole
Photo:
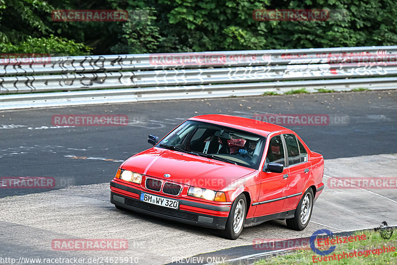
[[[353,54],[353,56],[350,56]],[[103,56],[73,56],[27,58],[25,60],[6,60],[0,63],[0,76],[35,75],[54,73],[98,73],[134,71],[149,69],[187,69],[202,67],[236,67],[257,65],[295,65],[319,63],[344,63],[358,56],[379,58],[397,55],[397,46],[342,47],[293,50],[224,51],[202,53],[172,54],[128,54]],[[172,62],[178,57],[191,57],[200,60],[207,57],[214,61],[205,63],[190,61],[181,64]]]

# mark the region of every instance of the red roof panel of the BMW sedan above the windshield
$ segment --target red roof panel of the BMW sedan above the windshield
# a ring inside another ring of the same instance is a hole
[[[225,127],[232,127],[235,129],[259,134],[265,137],[272,132],[287,130],[287,128],[272,123],[224,114],[199,115],[192,117],[189,120],[203,121]]]

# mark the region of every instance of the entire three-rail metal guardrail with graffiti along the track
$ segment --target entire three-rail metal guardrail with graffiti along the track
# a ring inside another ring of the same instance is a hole
[[[160,94],[161,99],[166,99],[171,93],[173,98],[176,93],[180,93],[178,98],[184,98],[194,94],[198,97],[249,95],[254,90],[254,94],[262,94],[303,87],[397,88],[396,59],[397,46],[27,59],[0,56],[0,94],[87,90],[78,91],[73,98],[81,94],[90,95],[92,99],[104,93],[93,89],[132,88],[124,91],[142,100],[159,98]],[[368,83],[370,80],[375,83]],[[107,97],[113,94],[117,98],[122,92],[116,90],[107,91]],[[46,94],[61,100],[54,93]],[[5,102],[9,103],[11,98],[24,105],[23,100],[34,97],[31,94],[0,95],[0,109],[4,109]],[[48,95],[38,97],[49,100]],[[92,103],[89,101],[87,103]]]

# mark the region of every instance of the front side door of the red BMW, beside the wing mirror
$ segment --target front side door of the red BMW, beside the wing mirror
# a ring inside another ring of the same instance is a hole
[[[284,146],[281,135],[270,138],[266,153],[265,167],[269,162],[283,164],[285,166]],[[265,168],[264,167],[264,168]],[[268,215],[283,211],[284,193],[287,187],[285,176],[288,175],[288,168],[282,173],[265,172],[260,173],[260,194],[254,216]]]

